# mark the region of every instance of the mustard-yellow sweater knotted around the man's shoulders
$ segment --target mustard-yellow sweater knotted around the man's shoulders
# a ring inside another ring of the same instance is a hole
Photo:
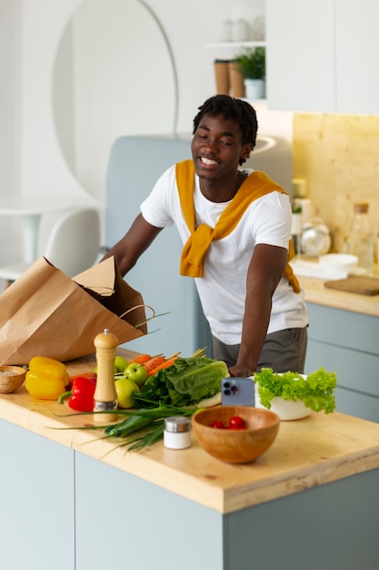
[[[238,225],[245,210],[256,198],[261,198],[276,190],[286,194],[285,190],[277,185],[264,172],[252,172],[236,192],[234,198],[226,206],[214,228],[207,224],[195,225],[194,216],[194,162],[184,160],[175,166],[176,184],[179,192],[180,204],[185,217],[185,223],[190,230],[190,237],[185,243],[180,263],[180,274],[187,277],[203,277],[204,260],[206,252],[215,239],[228,236]],[[294,257],[294,244],[289,243],[288,260]],[[296,293],[300,291],[299,282],[289,263],[284,270],[284,277]]]

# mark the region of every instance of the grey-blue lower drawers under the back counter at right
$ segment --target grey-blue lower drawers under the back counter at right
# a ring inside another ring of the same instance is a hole
[[[337,373],[337,411],[379,422],[379,319],[308,303],[305,372]]]

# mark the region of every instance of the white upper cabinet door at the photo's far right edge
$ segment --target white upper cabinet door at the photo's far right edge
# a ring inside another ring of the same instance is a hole
[[[379,113],[379,3],[335,0],[339,113]]]

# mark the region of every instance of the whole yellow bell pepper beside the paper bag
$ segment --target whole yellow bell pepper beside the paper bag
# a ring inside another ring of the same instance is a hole
[[[45,356],[34,356],[25,375],[25,389],[38,400],[57,400],[70,383],[63,362]]]

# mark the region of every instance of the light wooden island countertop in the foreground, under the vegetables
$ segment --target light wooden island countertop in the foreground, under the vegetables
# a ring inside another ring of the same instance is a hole
[[[119,349],[125,358],[131,353]],[[70,374],[93,370],[94,357],[67,364]],[[379,468],[379,424],[343,413],[312,413],[281,422],[271,449],[254,463],[230,465],[205,453],[193,436],[191,448],[168,450],[163,443],[125,453],[119,441],[100,440],[101,431],[62,429],[94,425],[91,415],[73,413],[65,404],[34,400],[22,386],[0,394],[0,418],[80,453],[132,473],[220,513],[298,493]]]

